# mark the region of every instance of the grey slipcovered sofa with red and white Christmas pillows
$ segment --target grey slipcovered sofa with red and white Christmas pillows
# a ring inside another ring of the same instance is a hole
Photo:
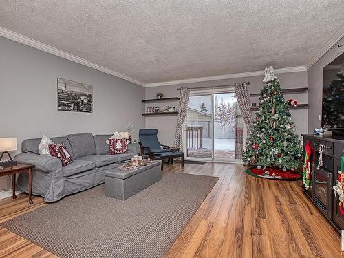
[[[138,155],[138,144],[128,144],[128,153],[109,155],[105,141],[110,137],[111,134],[78,133],[50,138],[56,144],[65,144],[73,156],[74,162],[65,167],[58,158],[39,155],[41,138],[24,140],[22,153],[14,159],[35,166],[32,194],[43,196],[45,202],[56,202],[66,195],[104,183],[105,171]],[[28,192],[28,173],[19,174],[17,188]]]

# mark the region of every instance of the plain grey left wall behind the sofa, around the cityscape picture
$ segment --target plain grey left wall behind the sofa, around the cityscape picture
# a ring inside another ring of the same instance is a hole
[[[43,133],[112,133],[131,122],[136,138],[144,127],[140,85],[2,37],[0,56],[0,137],[17,137],[19,150],[24,139]],[[57,111],[57,78],[93,85],[93,114]]]

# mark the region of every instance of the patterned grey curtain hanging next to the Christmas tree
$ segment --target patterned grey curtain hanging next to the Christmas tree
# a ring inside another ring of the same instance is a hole
[[[253,118],[246,83],[235,83],[234,91],[237,96],[237,102],[239,104],[242,118],[249,133],[250,127],[252,127],[253,124]]]

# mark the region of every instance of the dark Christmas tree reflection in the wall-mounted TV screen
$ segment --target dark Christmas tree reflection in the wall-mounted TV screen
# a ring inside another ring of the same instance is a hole
[[[323,122],[322,127],[344,127],[344,65],[336,74],[328,88],[323,89]]]

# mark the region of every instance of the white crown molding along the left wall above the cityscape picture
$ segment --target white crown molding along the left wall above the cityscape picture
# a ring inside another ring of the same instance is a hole
[[[134,78],[131,78],[130,76],[126,76],[125,74],[121,74],[120,72],[116,72],[116,71],[111,70],[107,67],[97,65],[96,63],[92,63],[92,62],[87,61],[87,60],[80,58],[78,56],[74,56],[73,54],[69,54],[69,53],[64,52],[62,50],[58,50],[56,47],[52,47],[50,45],[46,45],[44,43],[36,41],[34,39],[30,39],[27,36],[23,36],[21,34],[18,34],[17,32],[12,32],[11,30],[7,30],[6,28],[0,27],[0,36],[3,36],[4,38],[10,39],[12,41],[19,42],[23,45],[28,45],[29,47],[34,47],[37,50],[42,50],[42,51],[47,52],[49,54],[53,54],[54,56],[59,56],[61,58],[65,58],[69,61],[73,61],[75,63],[80,63],[81,65],[91,67],[91,68],[96,69],[100,72],[105,72],[106,74],[116,76],[116,77],[121,78],[123,80],[128,80],[131,83],[135,83],[135,84],[144,86],[144,83],[142,83],[139,80],[136,80]]]

